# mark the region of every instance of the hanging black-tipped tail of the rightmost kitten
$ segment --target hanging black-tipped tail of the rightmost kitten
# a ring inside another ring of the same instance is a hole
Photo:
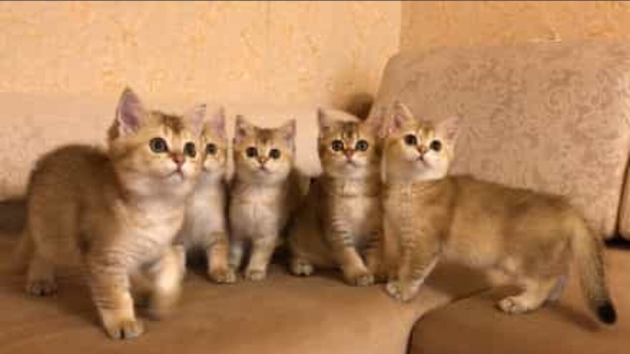
[[[595,236],[581,217],[572,218],[571,248],[580,275],[580,283],[588,305],[605,324],[617,321],[617,312],[610,300],[604,275],[604,244]]]

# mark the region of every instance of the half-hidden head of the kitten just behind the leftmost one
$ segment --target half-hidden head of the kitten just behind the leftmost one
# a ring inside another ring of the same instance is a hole
[[[219,108],[203,125],[202,177],[222,178],[227,170],[227,135],[226,117],[223,108]]]

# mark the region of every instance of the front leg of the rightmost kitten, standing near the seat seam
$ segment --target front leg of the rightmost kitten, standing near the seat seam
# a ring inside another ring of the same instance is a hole
[[[438,242],[429,240],[426,239],[418,247],[403,247],[398,280],[391,280],[386,285],[387,293],[394,299],[403,302],[413,299],[435,268],[438,260]]]

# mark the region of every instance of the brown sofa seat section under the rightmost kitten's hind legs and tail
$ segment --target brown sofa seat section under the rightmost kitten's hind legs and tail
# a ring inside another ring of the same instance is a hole
[[[630,250],[607,249],[607,277],[617,324],[597,323],[588,312],[577,277],[559,302],[536,312],[507,315],[495,302],[513,292],[488,290],[427,314],[411,335],[414,354],[449,353],[627,353],[630,348]]]

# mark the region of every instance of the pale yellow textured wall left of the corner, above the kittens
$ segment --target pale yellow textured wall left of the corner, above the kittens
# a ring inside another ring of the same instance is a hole
[[[398,50],[399,1],[0,3],[0,92],[343,105]]]

